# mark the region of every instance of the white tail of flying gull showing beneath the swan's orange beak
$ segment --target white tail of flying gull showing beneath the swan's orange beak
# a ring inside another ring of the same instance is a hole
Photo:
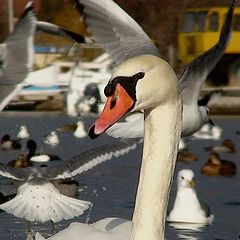
[[[135,113],[137,118],[128,118],[124,122],[117,122],[106,133],[114,138],[141,138],[144,134],[144,114]]]

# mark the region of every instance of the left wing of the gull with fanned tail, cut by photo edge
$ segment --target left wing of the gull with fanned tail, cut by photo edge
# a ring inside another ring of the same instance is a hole
[[[0,175],[14,180],[25,181],[30,176],[30,172],[25,168],[12,168],[0,163]]]

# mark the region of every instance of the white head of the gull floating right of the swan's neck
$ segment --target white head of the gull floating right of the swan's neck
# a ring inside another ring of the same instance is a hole
[[[194,188],[194,172],[190,169],[182,169],[178,173],[178,188]]]

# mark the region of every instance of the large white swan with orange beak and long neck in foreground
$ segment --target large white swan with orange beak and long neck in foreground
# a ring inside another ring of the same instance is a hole
[[[140,55],[115,70],[105,94],[108,97],[105,108],[89,130],[92,138],[126,112],[144,110],[144,149],[133,226],[131,222],[119,225],[120,220],[108,218],[93,225],[74,223],[50,239],[129,239],[131,234],[130,239],[134,240],[163,240],[181,132],[182,109],[176,75],[159,57]],[[39,234],[36,239],[41,239]]]

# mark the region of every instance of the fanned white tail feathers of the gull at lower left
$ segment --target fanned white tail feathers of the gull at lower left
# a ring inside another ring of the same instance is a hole
[[[0,209],[27,221],[44,223],[80,216],[91,205],[62,195],[52,183],[37,179],[37,183],[29,181],[20,186],[16,197],[1,204]]]

